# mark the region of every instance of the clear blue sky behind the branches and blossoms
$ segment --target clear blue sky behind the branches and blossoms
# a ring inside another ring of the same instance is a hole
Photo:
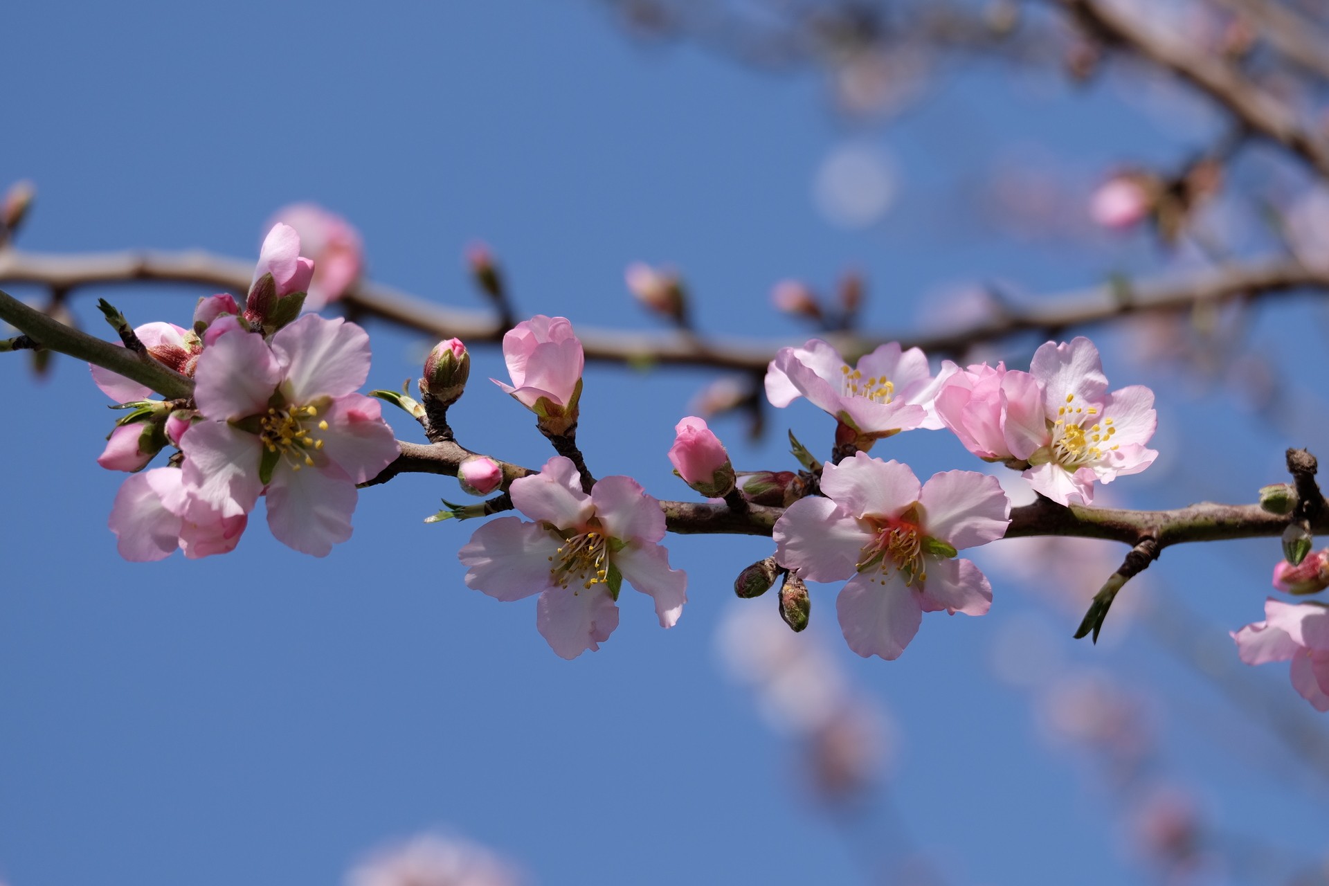
[[[1139,239],[995,236],[973,221],[970,182],[997,155],[1057,151],[1091,175],[1188,143],[1107,89],[1011,89],[986,69],[948,81],[898,126],[847,129],[815,76],[642,46],[582,0],[48,3],[5,20],[0,179],[40,189],[23,246],[253,256],[272,210],[314,199],[360,227],[372,274],[393,286],[480,304],[460,256],[484,238],[524,313],[595,325],[650,325],[623,292],[637,259],[684,268],[704,328],[784,335],[797,327],[767,308],[783,276],[828,282],[860,267],[870,325],[912,328],[928,312],[920,295],[957,282],[1037,292],[1156,264]],[[847,141],[896,158],[897,203],[867,231],[828,224],[809,195]],[[183,323],[197,295],[109,298],[136,321]],[[96,328],[90,299],[77,306]],[[1300,340],[1286,329],[1305,316],[1280,308],[1252,335]],[[371,335],[371,385],[419,375],[431,343]],[[1104,353],[1114,384],[1159,381],[1111,340]],[[625,592],[621,628],[571,663],[536,632],[529,602],[464,587],[456,550],[473,525],[420,522],[459,497],[447,478],[361,494],[354,539],[327,559],[282,547],[256,519],[229,557],[130,565],[105,529],[121,477],[93,462],[112,421],[105,399],[70,360],[44,383],[23,367],[0,360],[0,875],[11,886],[330,883],[364,850],[439,825],[541,883],[856,882],[860,859],[894,838],[870,830],[894,828],[882,818],[845,841],[807,805],[788,776],[792,745],[716,665],[732,578],[768,541],[674,538],[691,576],[679,626],[661,631],[650,602]],[[500,371],[493,351],[476,353],[459,436],[538,465],[548,453],[530,416],[485,380]],[[595,472],[687,497],[664,453],[708,377],[589,369],[581,433]],[[1200,405],[1188,393],[1160,389],[1167,450],[1151,474],[1118,485],[1120,501],[1249,501],[1280,480],[1284,446],[1316,442],[1243,428],[1232,392]],[[787,466],[785,426],[817,449],[829,441],[828,421],[804,406],[776,413],[759,445],[736,421],[718,429],[740,466]],[[942,434],[889,442],[880,454],[924,476],[977,466]],[[1236,458],[1220,462],[1225,453]],[[1148,592],[1203,611],[1223,639],[1260,618],[1276,557],[1272,541],[1170,551]],[[1083,598],[1095,580],[1067,592]],[[1111,648],[1073,646],[1078,615],[1042,607],[1025,584],[994,574],[991,615],[932,615],[894,663],[845,650],[835,588],[813,587],[813,628],[897,723],[892,802],[949,882],[1140,875],[1120,853],[1110,793],[1082,758],[1041,741],[1027,692],[993,677],[993,642],[1010,624],[1035,623],[1065,662],[1158,692],[1167,778],[1195,786],[1224,832],[1312,857],[1322,781],[1294,764],[1255,765],[1285,752],[1140,631]],[[772,599],[747,606],[775,618]],[[1269,671],[1243,676],[1298,703],[1285,671]]]

